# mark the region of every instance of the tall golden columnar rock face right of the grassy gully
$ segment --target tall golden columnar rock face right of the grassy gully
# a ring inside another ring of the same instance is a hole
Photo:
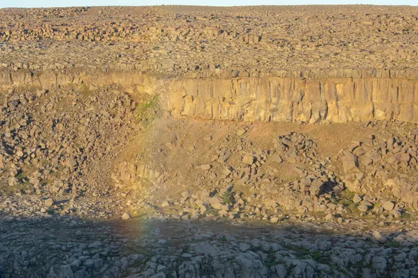
[[[168,108],[180,115],[216,120],[418,122],[416,79],[392,78],[385,71],[370,76],[340,74],[182,79],[172,83]]]

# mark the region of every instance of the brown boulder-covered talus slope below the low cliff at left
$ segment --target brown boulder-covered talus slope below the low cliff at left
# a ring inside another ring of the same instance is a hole
[[[1,93],[0,182],[6,192],[76,196],[109,190],[103,172],[137,130],[137,102],[117,86],[90,89],[15,87]]]

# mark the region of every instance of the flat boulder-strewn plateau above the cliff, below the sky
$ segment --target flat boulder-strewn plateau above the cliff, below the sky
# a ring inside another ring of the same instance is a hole
[[[364,5],[2,9],[0,65],[13,70],[87,65],[181,76],[407,69],[417,65],[417,10]]]

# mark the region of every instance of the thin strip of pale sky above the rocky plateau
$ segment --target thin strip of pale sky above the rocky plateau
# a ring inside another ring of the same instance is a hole
[[[150,6],[150,5],[198,5],[198,6],[249,6],[249,5],[410,5],[418,6],[418,0],[0,0],[0,8],[67,7],[67,6]]]

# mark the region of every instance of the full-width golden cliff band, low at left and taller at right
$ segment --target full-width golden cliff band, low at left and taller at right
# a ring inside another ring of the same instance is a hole
[[[3,87],[109,85],[160,95],[174,115],[215,120],[418,122],[417,72],[334,70],[213,76],[146,76],[135,72],[86,74],[1,72]]]

